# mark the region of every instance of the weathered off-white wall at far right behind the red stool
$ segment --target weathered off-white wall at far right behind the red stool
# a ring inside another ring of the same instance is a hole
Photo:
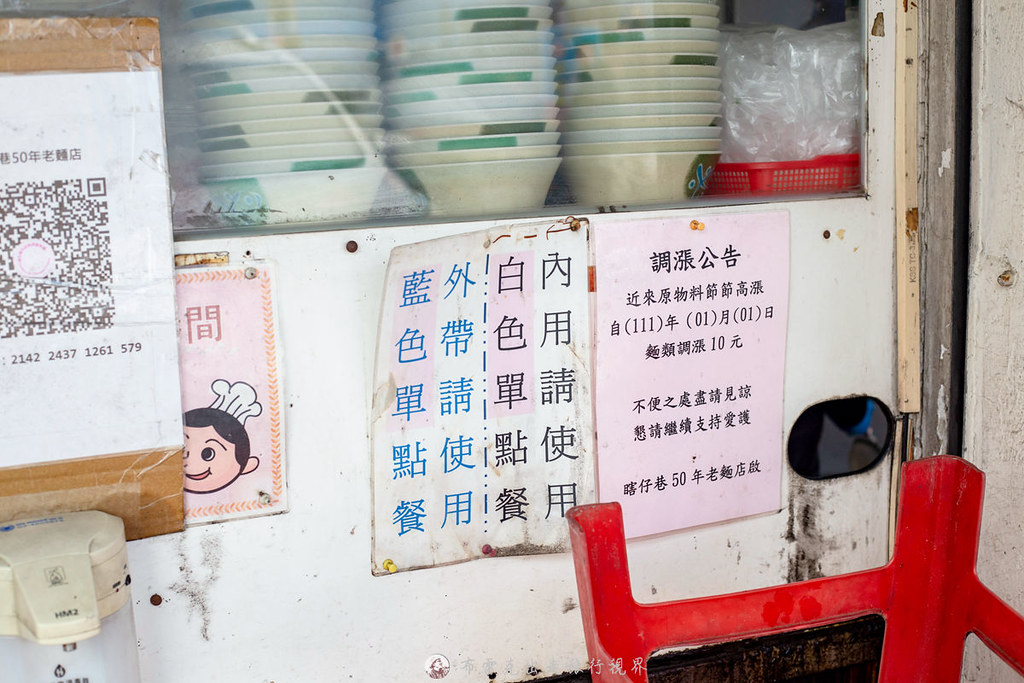
[[[964,456],[985,471],[985,508],[978,575],[1024,611],[1024,468],[1020,387],[1024,353],[1021,264],[1024,197],[1024,6],[974,3],[974,150],[971,164],[967,379]],[[1009,191],[1008,191],[1009,190]],[[964,657],[964,680],[1002,683],[1020,678],[976,638]]]

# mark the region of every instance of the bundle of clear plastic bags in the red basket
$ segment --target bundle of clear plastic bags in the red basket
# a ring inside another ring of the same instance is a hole
[[[776,162],[856,153],[862,60],[855,18],[809,31],[723,31],[722,161]]]

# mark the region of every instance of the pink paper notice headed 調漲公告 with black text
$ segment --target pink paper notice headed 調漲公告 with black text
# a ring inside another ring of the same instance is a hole
[[[788,215],[594,237],[599,499],[630,538],[777,510]]]

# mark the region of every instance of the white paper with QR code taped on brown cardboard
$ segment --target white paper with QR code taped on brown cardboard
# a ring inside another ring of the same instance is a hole
[[[160,88],[0,76],[0,466],[181,442]]]

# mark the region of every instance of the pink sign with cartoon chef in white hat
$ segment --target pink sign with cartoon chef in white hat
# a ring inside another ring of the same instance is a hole
[[[268,264],[177,273],[186,523],[284,512],[284,433]]]

